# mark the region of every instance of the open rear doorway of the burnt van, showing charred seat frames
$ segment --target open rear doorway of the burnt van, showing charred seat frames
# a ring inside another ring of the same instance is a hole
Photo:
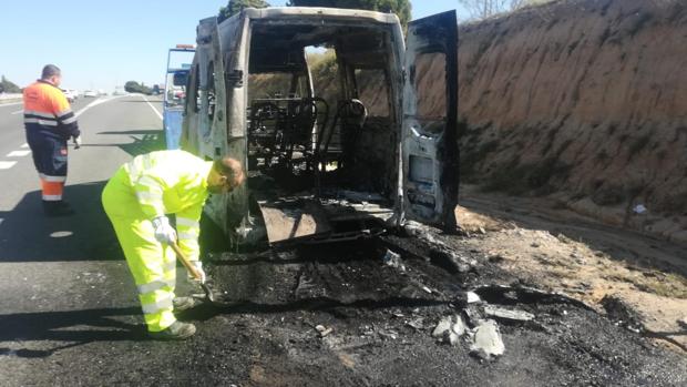
[[[338,187],[391,200],[398,153],[389,40],[365,27],[255,23],[248,167],[319,193]]]

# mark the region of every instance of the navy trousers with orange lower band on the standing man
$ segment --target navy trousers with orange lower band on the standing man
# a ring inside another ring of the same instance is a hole
[[[61,201],[66,181],[66,140],[53,133],[27,130],[27,142],[41,180],[43,201]]]

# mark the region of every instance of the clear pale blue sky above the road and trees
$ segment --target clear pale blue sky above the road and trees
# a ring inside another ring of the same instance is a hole
[[[63,86],[103,89],[164,81],[167,49],[194,43],[198,20],[227,0],[11,0],[2,4],[0,74],[24,86],[45,63]],[[268,0],[275,7],[286,0]],[[458,0],[416,0],[413,19],[457,9]],[[459,11],[460,12],[460,11]]]

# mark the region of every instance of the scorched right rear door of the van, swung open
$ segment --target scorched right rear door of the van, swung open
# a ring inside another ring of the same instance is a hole
[[[458,20],[455,11],[408,26],[402,179],[406,217],[455,230]]]

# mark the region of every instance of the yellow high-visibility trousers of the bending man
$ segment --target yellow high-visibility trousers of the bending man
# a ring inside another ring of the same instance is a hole
[[[147,329],[165,329],[176,320],[172,313],[176,285],[174,251],[155,240],[153,224],[141,211],[123,167],[105,185],[102,202],[139,288]]]

